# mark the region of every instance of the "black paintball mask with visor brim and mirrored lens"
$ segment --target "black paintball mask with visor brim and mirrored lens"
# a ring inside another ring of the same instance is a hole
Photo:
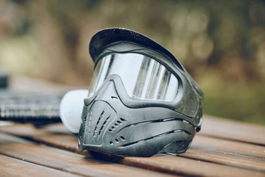
[[[124,28],[99,31],[89,50],[95,68],[79,149],[141,157],[185,152],[201,128],[203,93],[173,54]]]

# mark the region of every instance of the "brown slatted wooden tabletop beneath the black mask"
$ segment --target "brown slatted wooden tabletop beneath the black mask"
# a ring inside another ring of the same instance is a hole
[[[0,127],[0,176],[265,176],[265,127],[204,116],[183,154],[79,152],[62,124]]]

